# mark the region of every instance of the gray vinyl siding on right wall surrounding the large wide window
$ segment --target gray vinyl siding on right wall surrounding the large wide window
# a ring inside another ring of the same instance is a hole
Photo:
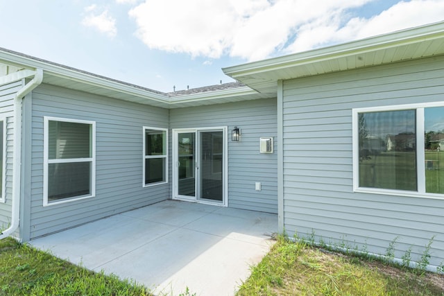
[[[283,82],[284,227],[325,243],[444,260],[444,200],[353,192],[352,108],[444,101],[444,57]]]

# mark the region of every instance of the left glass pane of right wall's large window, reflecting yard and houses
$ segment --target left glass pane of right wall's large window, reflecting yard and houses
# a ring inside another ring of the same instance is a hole
[[[416,191],[416,111],[358,116],[359,186]]]

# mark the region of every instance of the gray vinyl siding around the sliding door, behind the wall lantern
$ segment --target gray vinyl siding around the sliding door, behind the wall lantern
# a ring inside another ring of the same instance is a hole
[[[278,212],[277,155],[259,153],[260,137],[273,137],[274,150],[278,146],[275,98],[173,109],[170,126],[228,126],[228,207]],[[241,129],[238,142],[231,140],[234,126]],[[255,182],[262,191],[255,191]]]

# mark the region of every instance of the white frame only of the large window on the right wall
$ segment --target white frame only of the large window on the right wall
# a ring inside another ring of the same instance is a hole
[[[406,105],[388,105],[378,107],[364,107],[352,109],[352,143],[353,143],[353,191],[359,193],[378,193],[384,195],[397,195],[416,198],[444,199],[444,194],[425,192],[425,150],[421,149],[424,143],[424,109],[428,107],[444,107],[444,101],[434,103],[417,103]],[[359,187],[359,113],[416,110],[416,178],[417,191],[405,191],[397,189],[381,189]]]

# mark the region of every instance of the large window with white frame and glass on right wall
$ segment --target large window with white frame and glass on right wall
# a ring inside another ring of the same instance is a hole
[[[441,106],[353,110],[355,191],[444,194]]]

